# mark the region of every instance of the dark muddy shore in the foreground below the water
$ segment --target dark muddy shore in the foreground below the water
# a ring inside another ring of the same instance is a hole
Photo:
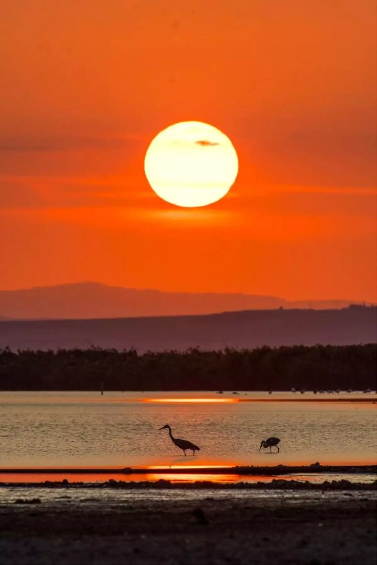
[[[377,563],[372,491],[0,490],[2,565]]]

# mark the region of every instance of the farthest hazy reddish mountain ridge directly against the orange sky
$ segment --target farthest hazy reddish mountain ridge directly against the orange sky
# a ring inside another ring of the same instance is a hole
[[[1,318],[97,319],[215,314],[276,308],[344,308],[360,300],[288,301],[255,294],[175,293],[79,282],[1,290]]]

